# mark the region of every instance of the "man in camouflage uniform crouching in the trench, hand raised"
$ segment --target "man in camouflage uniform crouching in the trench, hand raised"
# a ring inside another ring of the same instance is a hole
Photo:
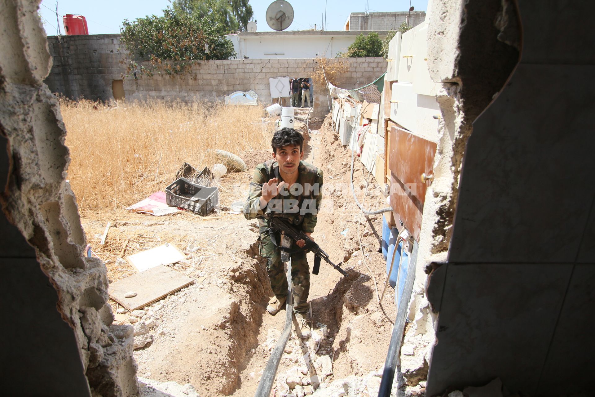
[[[281,262],[281,251],[267,233],[270,224],[262,218],[266,211],[287,218],[311,237],[317,222],[322,199],[322,171],[301,161],[303,137],[296,130],[284,127],[273,135],[273,159],[256,166],[250,192],[243,207],[246,219],[259,218],[261,255],[267,258],[267,271],[275,296],[269,302],[268,312],[276,314],[285,304],[287,279]],[[312,237],[311,237],[312,238]],[[279,237],[275,237],[277,244]],[[305,242],[293,242],[292,248],[302,248]],[[308,311],[310,268],[304,251],[291,255],[293,281],[293,310],[303,337],[310,335],[305,317]]]

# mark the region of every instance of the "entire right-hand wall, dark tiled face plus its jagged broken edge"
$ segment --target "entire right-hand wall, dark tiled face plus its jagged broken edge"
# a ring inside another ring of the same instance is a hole
[[[582,352],[595,349],[584,312],[595,280],[595,190],[584,183],[595,168],[595,58],[582,48],[593,8],[433,2],[428,65],[443,83],[442,118],[404,346],[430,362],[426,395],[495,377],[522,395],[592,388]],[[405,376],[421,372],[402,359]]]

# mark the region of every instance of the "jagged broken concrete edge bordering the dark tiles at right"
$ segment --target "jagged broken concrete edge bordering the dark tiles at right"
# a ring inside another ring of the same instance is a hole
[[[508,1],[435,0],[428,6],[428,67],[441,108],[434,180],[428,187],[414,293],[412,321],[401,352],[402,372],[409,385],[424,380],[428,371],[435,316],[425,296],[425,271],[432,262],[446,262],[452,237],[465,146],[472,122],[505,85],[518,62],[519,30],[516,14],[509,24],[496,23]],[[512,8],[514,11],[514,8]],[[510,9],[508,10],[510,11]],[[503,33],[517,45],[500,40]],[[484,203],[483,203],[484,204]]]

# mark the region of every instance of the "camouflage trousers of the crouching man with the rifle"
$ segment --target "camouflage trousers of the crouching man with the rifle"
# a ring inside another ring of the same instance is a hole
[[[277,243],[279,242],[277,236]],[[299,248],[295,242],[291,249]],[[261,256],[267,259],[268,278],[271,280],[271,289],[277,299],[287,296],[287,277],[281,250],[271,241],[267,234],[261,235]],[[291,255],[292,281],[293,281],[293,311],[306,314],[308,312],[308,293],[310,292],[310,267],[305,251],[298,251]]]

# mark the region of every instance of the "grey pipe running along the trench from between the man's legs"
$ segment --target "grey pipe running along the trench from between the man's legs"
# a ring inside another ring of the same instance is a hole
[[[258,382],[258,387],[256,388],[256,393],[254,397],[268,397],[271,395],[271,389],[273,389],[273,382],[275,380],[275,376],[277,375],[277,369],[279,368],[279,362],[281,361],[281,356],[283,355],[283,351],[285,350],[285,345],[287,345],[287,340],[289,340],[289,336],[292,333],[292,320],[293,320],[293,282],[292,282],[292,261],[287,262],[287,301],[286,301],[286,309],[287,313],[285,314],[285,328],[283,329],[283,333],[279,337],[277,341],[277,345],[273,349],[271,353],[271,357],[268,359],[267,366],[264,367],[264,371],[262,371],[262,377],[260,382]]]

